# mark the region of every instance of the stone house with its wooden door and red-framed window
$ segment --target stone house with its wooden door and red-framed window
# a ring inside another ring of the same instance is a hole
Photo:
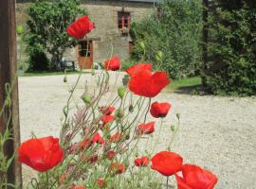
[[[133,50],[129,34],[131,23],[149,16],[157,1],[159,0],[83,0],[81,6],[87,10],[96,28],[76,48],[66,49],[64,59],[78,60],[82,68],[90,68],[92,62],[101,62],[113,56],[118,56],[121,60],[129,59]],[[27,15],[23,12],[30,3],[31,0],[17,0],[18,23],[27,20]]]

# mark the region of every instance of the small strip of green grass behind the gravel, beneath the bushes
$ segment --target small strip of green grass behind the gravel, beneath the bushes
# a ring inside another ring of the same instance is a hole
[[[187,77],[182,79],[173,80],[167,87],[168,91],[177,91],[181,89],[196,88],[201,85],[201,77]]]

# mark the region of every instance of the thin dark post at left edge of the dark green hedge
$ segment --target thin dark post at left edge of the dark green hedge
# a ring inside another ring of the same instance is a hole
[[[204,70],[207,68],[208,62],[208,32],[209,32],[209,23],[208,15],[209,14],[209,0],[203,0],[203,48],[202,48],[202,61],[203,66],[201,70],[202,86],[206,87],[206,76]]]

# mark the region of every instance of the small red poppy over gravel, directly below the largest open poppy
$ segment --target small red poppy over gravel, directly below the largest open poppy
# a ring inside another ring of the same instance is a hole
[[[172,105],[169,104],[168,102],[166,102],[166,103],[154,102],[151,105],[150,112],[151,112],[152,116],[155,118],[165,117],[167,115],[167,113],[169,112],[169,110],[171,109],[171,106]]]

